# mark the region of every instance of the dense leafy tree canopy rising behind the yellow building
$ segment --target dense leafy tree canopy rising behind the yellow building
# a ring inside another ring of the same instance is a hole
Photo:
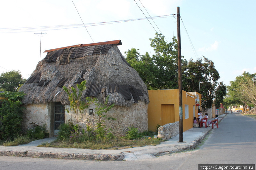
[[[148,89],[178,89],[178,45],[173,37],[166,43],[162,34],[156,33],[150,39],[150,46],[155,54],[152,58],[146,53],[140,55],[139,49],[132,48],[125,52],[126,61],[139,73]],[[223,101],[226,94],[225,85],[218,83],[219,72],[208,58],[198,58],[187,61],[181,56],[182,89],[197,91],[204,96],[202,107],[211,108],[215,97],[217,102]]]

